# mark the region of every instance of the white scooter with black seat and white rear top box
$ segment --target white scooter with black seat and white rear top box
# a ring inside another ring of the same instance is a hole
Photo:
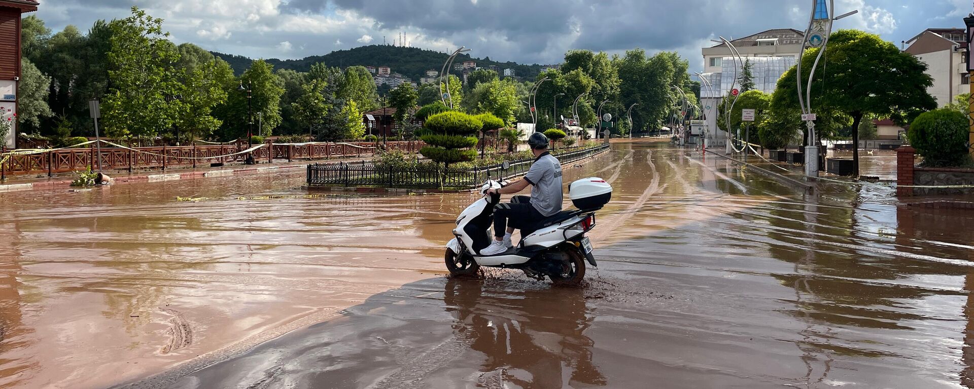
[[[539,221],[531,229],[521,230],[519,244],[505,253],[480,255],[493,239],[494,206],[501,195],[486,195],[490,189],[501,189],[505,182],[488,180],[480,188],[483,198],[470,204],[457,218],[456,238],[446,245],[444,261],[455,277],[475,277],[480,266],[517,268],[531,278],[547,276],[556,285],[577,286],[585,276],[585,261],[592,266],[592,244],[585,232],[595,227],[595,211],[612,198],[612,186],[601,178],[573,182],[569,197],[579,209],[559,212]]]

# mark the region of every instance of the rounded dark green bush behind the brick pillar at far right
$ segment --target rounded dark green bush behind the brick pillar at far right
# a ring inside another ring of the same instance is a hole
[[[951,109],[925,112],[910,124],[910,145],[930,167],[963,166],[971,163],[967,154],[967,118]]]

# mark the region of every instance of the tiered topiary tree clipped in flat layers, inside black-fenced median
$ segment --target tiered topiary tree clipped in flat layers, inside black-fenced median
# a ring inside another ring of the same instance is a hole
[[[454,162],[473,160],[476,158],[476,151],[469,148],[477,144],[477,138],[470,135],[482,127],[479,120],[462,112],[450,111],[433,115],[423,124],[427,134],[422,139],[430,146],[420,150],[420,154],[436,162],[443,162],[446,166]]]

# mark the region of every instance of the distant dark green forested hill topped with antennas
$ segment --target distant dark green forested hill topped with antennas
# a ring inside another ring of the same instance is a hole
[[[244,73],[244,70],[250,66],[250,62],[252,61],[251,58],[242,55],[212,53],[229,62],[234,72],[238,75]],[[393,73],[399,73],[418,82],[421,77],[424,77],[427,70],[436,70],[438,72],[443,67],[443,62],[446,61],[448,56],[446,53],[433,52],[431,50],[371,45],[351,50],[340,50],[325,55],[313,55],[302,59],[281,60],[272,58],[267,59],[267,61],[274,65],[275,69],[291,69],[299,72],[309,71],[311,65],[318,62],[340,68],[349,66],[389,66],[393,69]],[[468,59],[471,59],[469,55],[460,54],[457,55],[454,63],[463,62]],[[476,61],[477,66],[480,67],[495,65],[501,71],[506,68],[512,68],[517,72],[518,77],[529,79],[537,76],[542,68],[539,64],[522,65],[515,62],[498,62],[491,60],[490,57],[472,58],[472,60]]]

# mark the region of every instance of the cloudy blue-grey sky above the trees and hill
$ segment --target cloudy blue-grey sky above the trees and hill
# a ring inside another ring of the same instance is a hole
[[[125,18],[132,5],[165,18],[178,43],[251,57],[300,58],[392,43],[476,57],[558,63],[570,49],[621,53],[677,51],[702,67],[700,48],[716,36],[770,28],[804,29],[809,0],[40,0],[56,31],[98,18]],[[836,0],[837,28],[896,42],[925,28],[962,26],[970,0]]]

